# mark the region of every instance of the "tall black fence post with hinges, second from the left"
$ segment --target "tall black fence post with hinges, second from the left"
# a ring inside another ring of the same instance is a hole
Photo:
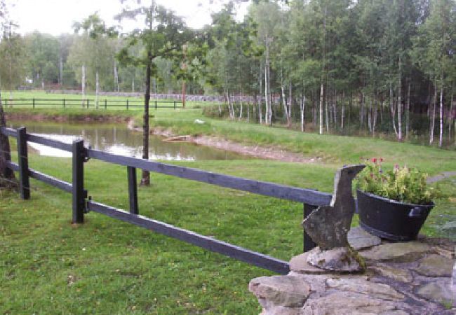
[[[84,223],[84,141],[73,141],[73,223]]]

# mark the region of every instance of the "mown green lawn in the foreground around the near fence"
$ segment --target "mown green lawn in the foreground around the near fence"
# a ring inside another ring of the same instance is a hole
[[[13,156],[13,160],[17,157]],[[71,179],[71,160],[30,155],[30,167]],[[178,162],[213,172],[331,191],[335,167],[271,161]],[[280,172],[277,170],[280,169]],[[441,235],[453,197],[438,202],[423,231]],[[302,251],[302,205],[152,174],[139,189],[145,216],[288,260]],[[71,225],[71,195],[32,180],[32,200],[0,191],[0,312],[20,314],[258,314],[247,290],[264,269],[100,214]],[[126,169],[91,160],[93,200],[126,209]],[[356,224],[356,220],[355,223]]]

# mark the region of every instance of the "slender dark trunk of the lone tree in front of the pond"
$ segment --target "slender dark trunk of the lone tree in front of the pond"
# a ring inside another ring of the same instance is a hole
[[[150,100],[150,77],[152,76],[152,51],[147,50],[146,64],[146,90],[144,94],[144,125],[142,133],[142,158],[149,160],[149,100]],[[142,170],[141,186],[150,185],[150,173]]]

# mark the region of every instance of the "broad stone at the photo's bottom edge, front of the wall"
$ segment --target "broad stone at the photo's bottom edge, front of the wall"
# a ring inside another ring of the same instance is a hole
[[[395,310],[397,309],[392,302],[380,300],[368,295],[336,292],[331,295],[307,300],[302,309],[302,314],[388,314],[388,311]]]

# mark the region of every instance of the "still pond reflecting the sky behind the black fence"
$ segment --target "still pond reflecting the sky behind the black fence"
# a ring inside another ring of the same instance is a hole
[[[142,157],[142,133],[128,130],[126,124],[72,124],[40,123],[35,121],[8,122],[8,127],[27,127],[27,132],[48,137],[58,141],[72,143],[84,139],[86,146],[108,153]],[[29,146],[40,155],[69,158],[71,153],[48,146],[29,143]],[[198,146],[187,142],[166,142],[163,137],[150,136],[149,159],[168,161],[196,160],[246,160],[246,155],[223,151],[207,146]]]

